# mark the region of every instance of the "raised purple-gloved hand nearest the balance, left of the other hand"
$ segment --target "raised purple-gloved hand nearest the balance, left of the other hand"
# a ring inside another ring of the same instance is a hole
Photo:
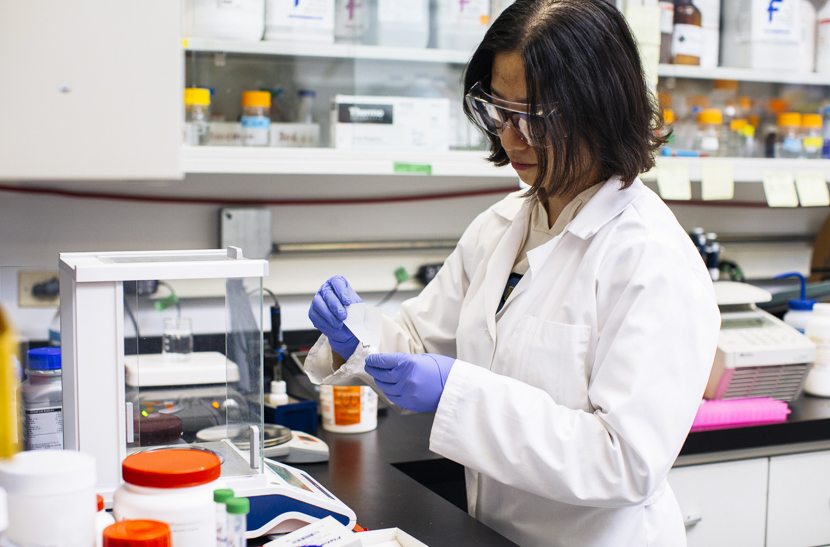
[[[336,275],[323,283],[308,310],[311,323],[320,329],[329,339],[331,349],[348,361],[357,347],[357,338],[343,324],[346,319],[346,306],[363,300],[354,292],[349,282],[342,275]]]

